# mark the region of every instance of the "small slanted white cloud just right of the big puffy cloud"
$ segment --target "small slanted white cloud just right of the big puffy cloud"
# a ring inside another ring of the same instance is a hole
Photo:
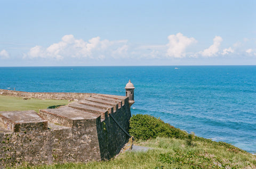
[[[213,39],[213,45],[211,45],[207,49],[204,49],[202,52],[199,52],[199,54],[205,57],[216,55],[219,52],[221,41],[222,41],[222,38],[220,36],[215,36],[215,38]]]

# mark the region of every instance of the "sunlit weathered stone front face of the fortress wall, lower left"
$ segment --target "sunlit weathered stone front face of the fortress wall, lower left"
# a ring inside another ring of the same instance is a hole
[[[95,123],[79,121],[74,129],[0,133],[0,166],[101,160]]]

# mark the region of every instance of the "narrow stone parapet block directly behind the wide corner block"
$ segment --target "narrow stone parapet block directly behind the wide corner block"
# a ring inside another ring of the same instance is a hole
[[[105,119],[105,116],[108,115],[108,111],[106,109],[87,106],[87,105],[84,105],[84,104],[79,104],[77,102],[73,102],[73,103],[68,104],[68,107],[72,107],[72,108],[75,108],[75,109],[79,109],[81,111],[86,111],[86,112],[90,112],[90,113],[93,113],[93,114],[101,115],[101,119]]]

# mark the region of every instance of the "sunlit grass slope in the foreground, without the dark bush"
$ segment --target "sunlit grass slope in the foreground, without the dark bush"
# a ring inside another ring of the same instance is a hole
[[[241,149],[229,149],[222,143],[194,140],[156,138],[137,141],[136,145],[150,147],[147,152],[120,154],[108,161],[65,163],[18,168],[256,168],[256,156]]]

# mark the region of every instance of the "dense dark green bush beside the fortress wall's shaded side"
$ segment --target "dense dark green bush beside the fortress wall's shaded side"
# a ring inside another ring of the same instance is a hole
[[[137,114],[130,119],[130,134],[137,140],[147,140],[156,137],[169,137],[184,139],[185,131],[174,128],[169,123],[151,115]]]

